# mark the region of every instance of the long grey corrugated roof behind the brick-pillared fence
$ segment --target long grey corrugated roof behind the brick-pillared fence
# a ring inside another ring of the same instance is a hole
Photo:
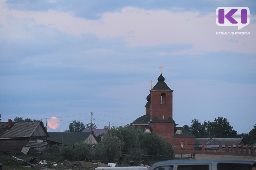
[[[217,146],[219,147],[219,142],[221,142],[222,145],[225,145],[227,142],[228,145],[230,143],[233,143],[233,145],[236,145],[236,143],[245,143],[243,138],[195,138],[194,143],[198,145],[202,145],[202,142],[204,142],[205,147],[212,147]]]

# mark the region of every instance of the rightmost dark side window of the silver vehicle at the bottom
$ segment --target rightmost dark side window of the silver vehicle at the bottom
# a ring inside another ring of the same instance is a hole
[[[217,170],[251,170],[251,164],[218,163]]]

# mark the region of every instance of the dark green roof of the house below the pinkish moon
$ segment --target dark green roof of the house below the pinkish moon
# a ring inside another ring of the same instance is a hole
[[[62,137],[61,132],[48,132],[48,134],[50,135],[50,137],[47,138],[48,141],[62,143],[63,139],[64,145],[74,145],[75,143],[85,141],[92,132],[62,132]]]

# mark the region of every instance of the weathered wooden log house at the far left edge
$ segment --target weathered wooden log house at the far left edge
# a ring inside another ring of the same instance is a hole
[[[47,137],[41,120],[0,122],[0,152],[40,153],[47,145]]]

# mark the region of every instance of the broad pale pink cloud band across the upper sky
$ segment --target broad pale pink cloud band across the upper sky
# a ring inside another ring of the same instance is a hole
[[[33,18],[34,22],[41,27],[57,28],[60,32],[74,36],[92,33],[98,38],[119,38],[126,42],[127,47],[190,44],[193,48],[180,51],[183,53],[218,50],[256,52],[251,43],[256,38],[255,34],[216,35],[216,32],[220,31],[234,32],[237,30],[233,27],[217,26],[215,11],[201,16],[200,12],[172,12],[164,9],[145,10],[124,7],[121,11],[102,13],[102,17],[97,20],[78,18],[72,12],[58,12],[52,9],[45,12],[6,11],[5,9],[4,14],[8,16],[8,13],[12,13],[15,18]],[[250,18],[253,19],[254,16],[251,15]],[[250,32],[250,30],[255,30],[255,27],[256,24],[252,22],[243,28],[243,31]],[[231,42],[230,39],[237,43]]]

